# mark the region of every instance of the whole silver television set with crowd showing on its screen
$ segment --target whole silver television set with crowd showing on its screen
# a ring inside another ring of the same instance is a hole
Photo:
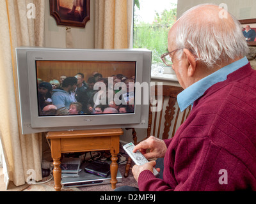
[[[150,50],[19,47],[16,54],[23,135],[147,128]]]

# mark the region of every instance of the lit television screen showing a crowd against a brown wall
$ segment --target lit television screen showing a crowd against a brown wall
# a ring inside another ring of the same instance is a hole
[[[36,61],[38,115],[134,113],[135,61]]]

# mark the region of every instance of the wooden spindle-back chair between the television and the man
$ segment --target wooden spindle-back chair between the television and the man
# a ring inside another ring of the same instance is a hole
[[[148,115],[147,137],[143,140],[146,140],[151,135],[162,140],[170,137],[172,138],[191,111],[191,106],[189,106],[183,113],[181,113],[179,105],[177,104],[177,95],[183,91],[182,87],[163,85],[163,91],[159,89],[161,89],[161,87],[157,87],[157,85],[151,87],[151,103]],[[152,105],[153,99],[154,101],[157,101],[156,105]],[[156,112],[154,110],[156,110],[157,107],[159,108],[159,111]],[[134,128],[127,129],[132,129],[132,139],[134,144],[137,145],[136,130]],[[129,175],[131,163],[132,161],[129,157],[125,167],[125,178]]]

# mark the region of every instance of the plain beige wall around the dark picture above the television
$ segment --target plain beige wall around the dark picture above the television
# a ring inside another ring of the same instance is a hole
[[[94,3],[94,0],[90,1],[90,20],[86,27],[71,27],[72,48],[94,48]],[[50,15],[49,0],[45,1],[45,47],[66,48],[66,27],[56,24]]]

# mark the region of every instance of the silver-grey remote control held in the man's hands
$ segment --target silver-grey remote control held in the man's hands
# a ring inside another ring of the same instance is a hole
[[[143,154],[141,154],[139,150],[137,150],[137,152],[135,153],[132,152],[134,147],[135,146],[133,143],[127,143],[126,145],[124,145],[123,149],[125,150],[125,152],[127,152],[127,154],[131,157],[132,161],[134,161],[135,164],[140,166],[148,163],[148,160],[145,158],[145,156],[143,156]],[[156,177],[159,176],[159,172],[156,170],[156,168],[153,168],[153,173]]]

